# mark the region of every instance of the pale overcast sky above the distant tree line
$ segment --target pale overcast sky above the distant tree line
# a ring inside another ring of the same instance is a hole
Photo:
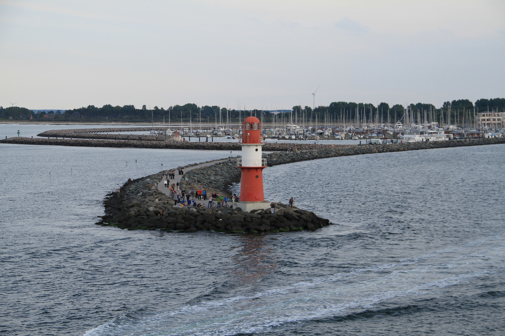
[[[4,1],[0,105],[505,97],[505,1]],[[267,105],[268,104],[268,105]]]

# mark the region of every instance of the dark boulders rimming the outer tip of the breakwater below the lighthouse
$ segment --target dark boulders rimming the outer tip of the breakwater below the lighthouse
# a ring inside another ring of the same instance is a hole
[[[205,167],[208,168],[208,167]],[[128,180],[119,192],[104,199],[106,215],[98,225],[128,230],[196,232],[213,230],[228,233],[262,233],[311,230],[331,224],[313,212],[275,204],[268,210],[241,212],[236,209],[197,209],[174,206],[174,201],[158,190],[162,173]],[[217,185],[216,185],[217,186]]]

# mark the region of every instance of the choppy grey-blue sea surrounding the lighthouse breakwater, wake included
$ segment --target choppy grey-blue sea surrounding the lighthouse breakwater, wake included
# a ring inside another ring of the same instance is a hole
[[[0,333],[503,334],[505,145],[265,169],[316,232],[94,225],[129,177],[228,155],[0,145]]]

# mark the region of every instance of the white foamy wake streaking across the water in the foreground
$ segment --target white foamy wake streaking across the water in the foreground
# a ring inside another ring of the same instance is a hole
[[[173,311],[139,314],[138,319],[121,317],[86,332],[85,336],[268,332],[284,323],[377,309],[381,303],[393,299],[413,302],[455,292],[465,295],[455,286],[471,284],[473,279],[494,273],[497,267],[503,268],[500,260],[504,252],[502,246],[474,250],[444,263],[429,263],[431,257],[425,255],[416,258],[417,262],[410,259],[362,268],[258,293],[230,292],[229,298],[203,301]],[[381,270],[390,273],[367,274]]]

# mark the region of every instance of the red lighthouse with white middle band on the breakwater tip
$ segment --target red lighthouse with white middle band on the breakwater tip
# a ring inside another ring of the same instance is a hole
[[[242,122],[242,137],[238,143],[242,146],[242,158],[237,159],[237,166],[242,171],[240,179],[240,198],[233,202],[234,208],[243,212],[255,209],[267,209],[270,203],[263,195],[263,169],[267,159],[262,159],[261,149],[265,138],[261,135],[261,122],[257,117],[247,117]]]

